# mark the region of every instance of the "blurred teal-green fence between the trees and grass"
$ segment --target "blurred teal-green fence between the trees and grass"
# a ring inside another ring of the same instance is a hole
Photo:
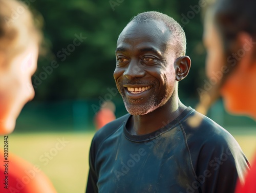
[[[116,104],[116,116],[126,113],[123,102]],[[195,101],[184,102],[194,107]],[[55,102],[29,102],[20,113],[15,132],[58,132],[94,131],[94,116],[99,109],[98,100],[73,100]],[[255,127],[254,120],[247,117],[232,116],[225,112],[222,101],[209,110],[208,116],[223,127]]]

